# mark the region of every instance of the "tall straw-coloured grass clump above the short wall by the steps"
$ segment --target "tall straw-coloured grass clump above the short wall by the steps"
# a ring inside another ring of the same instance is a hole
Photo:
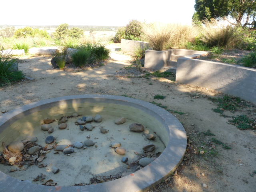
[[[144,39],[153,50],[184,48],[197,34],[194,26],[182,24],[150,23],[143,24],[142,28]]]

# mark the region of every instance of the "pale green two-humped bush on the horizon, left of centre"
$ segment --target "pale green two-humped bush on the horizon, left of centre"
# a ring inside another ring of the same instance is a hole
[[[60,24],[53,36],[54,38],[58,39],[58,40],[62,40],[66,37],[72,37],[72,38],[80,38],[82,35],[84,34],[84,31],[80,28],[71,28],[69,29],[69,26],[67,23],[64,24]]]

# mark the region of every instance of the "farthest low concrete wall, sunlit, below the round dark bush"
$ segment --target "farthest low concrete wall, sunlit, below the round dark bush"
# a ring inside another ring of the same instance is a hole
[[[130,54],[134,54],[138,48],[149,47],[149,43],[143,41],[133,41],[127,39],[121,39],[121,50]]]

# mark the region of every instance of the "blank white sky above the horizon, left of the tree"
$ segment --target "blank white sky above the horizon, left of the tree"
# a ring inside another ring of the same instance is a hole
[[[125,26],[132,19],[190,24],[194,0],[1,0],[0,25]]]

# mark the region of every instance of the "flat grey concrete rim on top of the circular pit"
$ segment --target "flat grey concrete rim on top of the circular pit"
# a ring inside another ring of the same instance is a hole
[[[186,152],[186,132],[184,127],[176,117],[166,110],[149,102],[134,98],[113,95],[76,95],[41,100],[16,108],[0,116],[0,132],[2,132],[8,124],[15,121],[16,116],[20,116],[20,114],[24,114],[25,116],[42,107],[50,108],[60,102],[68,101],[79,103],[88,99],[94,100],[95,102],[108,100],[108,102],[128,104],[143,109],[144,112],[154,113],[156,118],[162,121],[166,130],[169,132],[170,140],[165,150],[151,164],[133,174],[110,182],[88,186],[42,186],[33,184],[30,181],[22,182],[0,171],[0,189],[2,191],[12,192],[18,189],[19,192],[32,192],[38,189],[38,192],[139,192],[151,188],[174,172]]]

